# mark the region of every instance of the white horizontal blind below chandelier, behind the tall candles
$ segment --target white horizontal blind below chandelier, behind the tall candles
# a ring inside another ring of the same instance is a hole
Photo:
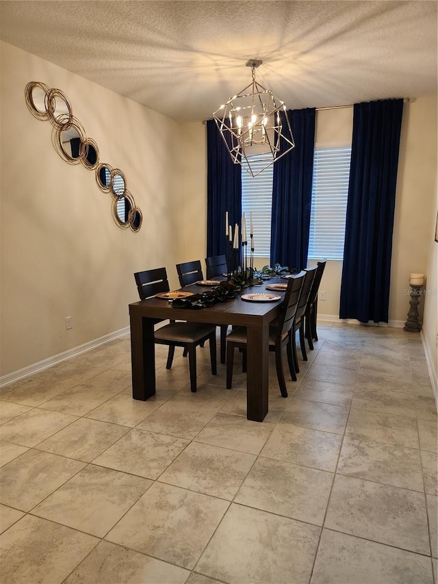
[[[251,162],[254,173],[265,165],[266,160]],[[273,164],[252,177],[242,168],[242,212],[246,216],[248,244],[250,213],[253,214],[254,255],[257,257],[270,257],[271,254],[272,169]]]

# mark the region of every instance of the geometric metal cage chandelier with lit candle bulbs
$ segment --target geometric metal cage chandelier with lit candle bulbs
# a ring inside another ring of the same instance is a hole
[[[284,102],[255,80],[261,63],[255,59],[246,63],[253,69],[252,83],[213,114],[233,163],[252,177],[295,147]]]

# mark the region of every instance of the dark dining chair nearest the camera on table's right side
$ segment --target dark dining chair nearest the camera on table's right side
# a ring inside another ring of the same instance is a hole
[[[281,395],[284,398],[287,398],[287,389],[283,371],[283,346],[286,346],[290,376],[293,381],[296,381],[290,331],[295,319],[305,277],[305,272],[300,272],[298,275],[288,279],[285,298],[281,305],[281,314],[271,323],[269,330],[269,350],[275,353],[276,377],[279,381]],[[233,385],[235,348],[242,349],[242,370],[246,372],[246,341],[245,327],[237,327],[227,335],[227,389],[229,390]]]

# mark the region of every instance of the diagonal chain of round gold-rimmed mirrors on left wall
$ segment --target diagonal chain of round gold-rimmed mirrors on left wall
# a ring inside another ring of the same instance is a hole
[[[73,108],[66,95],[51,89],[40,81],[30,81],[25,88],[26,105],[38,120],[49,120],[53,126],[53,147],[68,164],[83,164],[94,170],[96,183],[112,196],[112,216],[116,225],[131,231],[142,226],[142,212],[127,190],[126,177],[120,168],[99,162],[99,147],[88,138],[81,122],[73,116]]]

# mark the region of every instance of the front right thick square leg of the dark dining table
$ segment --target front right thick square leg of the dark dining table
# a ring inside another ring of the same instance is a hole
[[[269,323],[246,329],[246,418],[263,422],[268,414]]]

